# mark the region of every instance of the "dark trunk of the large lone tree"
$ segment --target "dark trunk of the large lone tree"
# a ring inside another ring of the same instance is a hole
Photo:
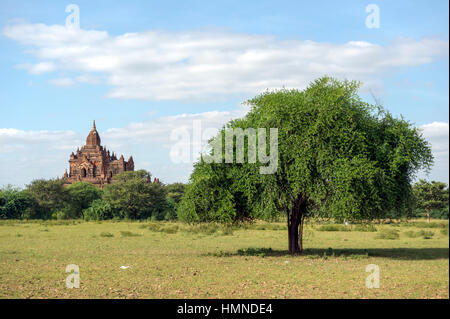
[[[289,252],[301,254],[303,252],[303,221],[306,213],[306,201],[297,199],[288,214]]]

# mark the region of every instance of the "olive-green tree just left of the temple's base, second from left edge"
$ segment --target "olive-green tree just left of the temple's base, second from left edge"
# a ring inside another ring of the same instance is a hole
[[[26,186],[27,193],[32,200],[32,207],[26,218],[49,219],[52,215],[64,209],[67,192],[62,180],[37,179]]]

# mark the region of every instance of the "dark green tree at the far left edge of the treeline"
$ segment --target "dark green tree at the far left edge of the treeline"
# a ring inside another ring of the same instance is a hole
[[[0,189],[0,219],[20,219],[32,206],[30,196],[18,188]]]

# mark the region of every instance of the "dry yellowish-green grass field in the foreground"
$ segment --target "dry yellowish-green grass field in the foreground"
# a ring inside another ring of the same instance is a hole
[[[287,254],[283,223],[1,221],[0,297],[449,298],[448,221],[309,223],[304,247]],[[378,289],[365,286],[369,264]]]

